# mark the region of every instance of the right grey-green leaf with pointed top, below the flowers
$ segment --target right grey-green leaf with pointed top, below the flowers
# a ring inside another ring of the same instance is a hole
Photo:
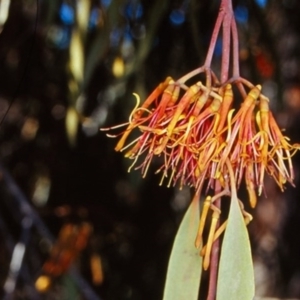
[[[254,289],[248,230],[238,199],[233,197],[221,249],[217,300],[252,300]]]

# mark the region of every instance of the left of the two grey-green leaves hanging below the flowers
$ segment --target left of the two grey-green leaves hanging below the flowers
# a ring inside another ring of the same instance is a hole
[[[202,257],[194,246],[199,224],[199,199],[195,197],[181,221],[169,260],[163,300],[197,300]]]

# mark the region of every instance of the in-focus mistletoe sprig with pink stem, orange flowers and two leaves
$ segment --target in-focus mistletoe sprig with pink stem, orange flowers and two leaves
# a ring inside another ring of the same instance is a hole
[[[211,64],[221,31],[218,78]],[[281,190],[286,182],[293,185],[291,157],[299,145],[290,144],[282,134],[261,85],[240,76],[238,51],[232,3],[222,0],[204,64],[178,80],[168,77],[142,104],[134,94],[136,106],[129,121],[102,129],[126,127],[108,136],[121,135],[115,150],[133,160],[129,171],[140,169],[145,177],[152,159],[159,156],[163,163],[156,172],[161,184],[167,181],[168,186],[195,191],[175,238],[164,300],[198,299],[202,269],[209,271],[208,300],[252,300],[254,275],[246,228],[252,216],[238,190],[244,181],[254,208],[266,174]],[[189,86],[187,82],[201,73],[205,82]],[[239,109],[233,108],[235,98],[242,99]],[[126,144],[133,130],[140,135]],[[223,216],[221,204],[226,199],[230,209]]]

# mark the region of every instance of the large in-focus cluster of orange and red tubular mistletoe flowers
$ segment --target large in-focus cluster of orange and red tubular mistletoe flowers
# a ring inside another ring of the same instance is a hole
[[[254,207],[255,190],[262,193],[266,173],[281,189],[287,181],[293,184],[291,156],[299,146],[283,136],[260,85],[247,87],[241,107],[234,109],[232,84],[212,81],[186,87],[168,77],[142,105],[135,94],[137,104],[115,150],[127,150],[125,156],[133,160],[130,169],[141,169],[143,177],[152,159],[161,157],[156,171],[162,174],[161,184],[167,179],[168,186],[179,183],[196,191],[204,183],[213,188],[216,180],[229,188],[228,161],[237,189],[245,178]],[[134,129],[140,136],[125,145]]]

